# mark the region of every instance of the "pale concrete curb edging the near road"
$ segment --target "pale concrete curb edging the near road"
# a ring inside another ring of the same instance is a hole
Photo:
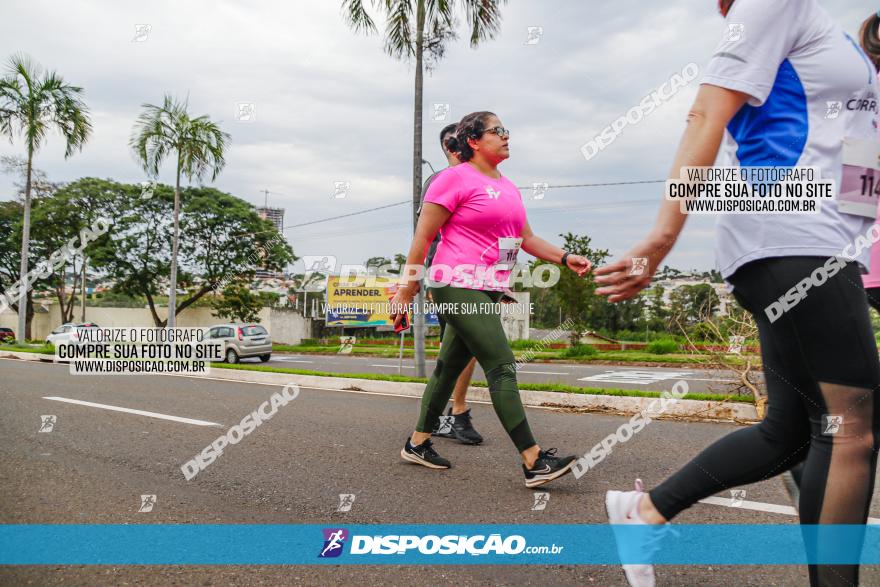
[[[52,355],[0,351],[0,358],[15,358],[26,361],[54,362]],[[213,367],[211,373],[186,375],[200,379],[225,379],[251,383],[286,385],[295,383],[303,387],[317,387],[339,391],[359,391],[365,393],[386,393],[409,397],[422,397],[424,383],[398,381],[376,381],[348,377],[318,377],[315,375],[294,375],[292,373],[272,373],[266,371],[244,371]],[[627,397],[616,395],[595,395],[565,393],[557,391],[520,390],[523,405],[531,407],[563,408],[577,411],[607,412],[612,414],[634,415],[643,412],[652,418],[688,418],[715,422],[753,423],[759,421],[755,406],[740,402],[721,402],[681,399],[669,403],[662,415],[656,414],[659,406],[657,398]],[[489,390],[485,387],[468,388],[468,399],[491,403]],[[652,409],[653,408],[653,409]],[[653,412],[653,413],[652,413]]]

